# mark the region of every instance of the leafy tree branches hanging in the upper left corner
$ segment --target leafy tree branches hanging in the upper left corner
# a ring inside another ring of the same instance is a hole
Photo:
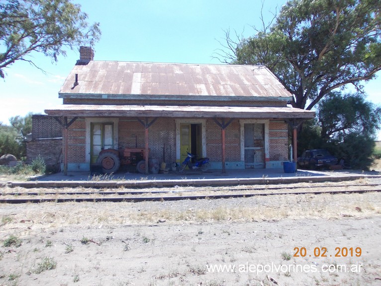
[[[0,1],[0,77],[16,60],[27,61],[32,51],[53,61],[66,55],[64,48],[93,45],[100,37],[99,23],[89,25],[88,15],[70,0]]]

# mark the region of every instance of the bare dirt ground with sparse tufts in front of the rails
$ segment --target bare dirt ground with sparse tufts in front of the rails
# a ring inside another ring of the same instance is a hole
[[[0,218],[0,285],[381,285],[379,192],[3,204]]]

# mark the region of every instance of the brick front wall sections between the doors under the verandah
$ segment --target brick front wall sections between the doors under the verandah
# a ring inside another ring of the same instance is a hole
[[[70,118],[69,118],[70,120]],[[152,120],[152,119],[151,119]],[[119,118],[118,146],[144,147],[145,129],[136,119]],[[226,161],[240,161],[240,123],[233,122],[225,131]],[[68,131],[69,163],[86,161],[86,122],[84,118],[77,119]],[[159,118],[148,131],[150,157],[163,160],[165,147],[166,162],[176,160],[176,124],[173,118]],[[206,120],[206,152],[213,161],[222,160],[221,128],[212,120]],[[271,161],[288,159],[287,124],[282,120],[271,120],[269,124],[269,153]]]

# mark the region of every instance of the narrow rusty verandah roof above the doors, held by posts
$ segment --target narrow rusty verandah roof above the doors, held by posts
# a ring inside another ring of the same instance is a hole
[[[310,110],[292,107],[247,106],[154,106],[154,105],[81,105],[63,104],[45,110],[53,116],[153,116],[153,117],[235,117],[235,118],[313,118]]]

